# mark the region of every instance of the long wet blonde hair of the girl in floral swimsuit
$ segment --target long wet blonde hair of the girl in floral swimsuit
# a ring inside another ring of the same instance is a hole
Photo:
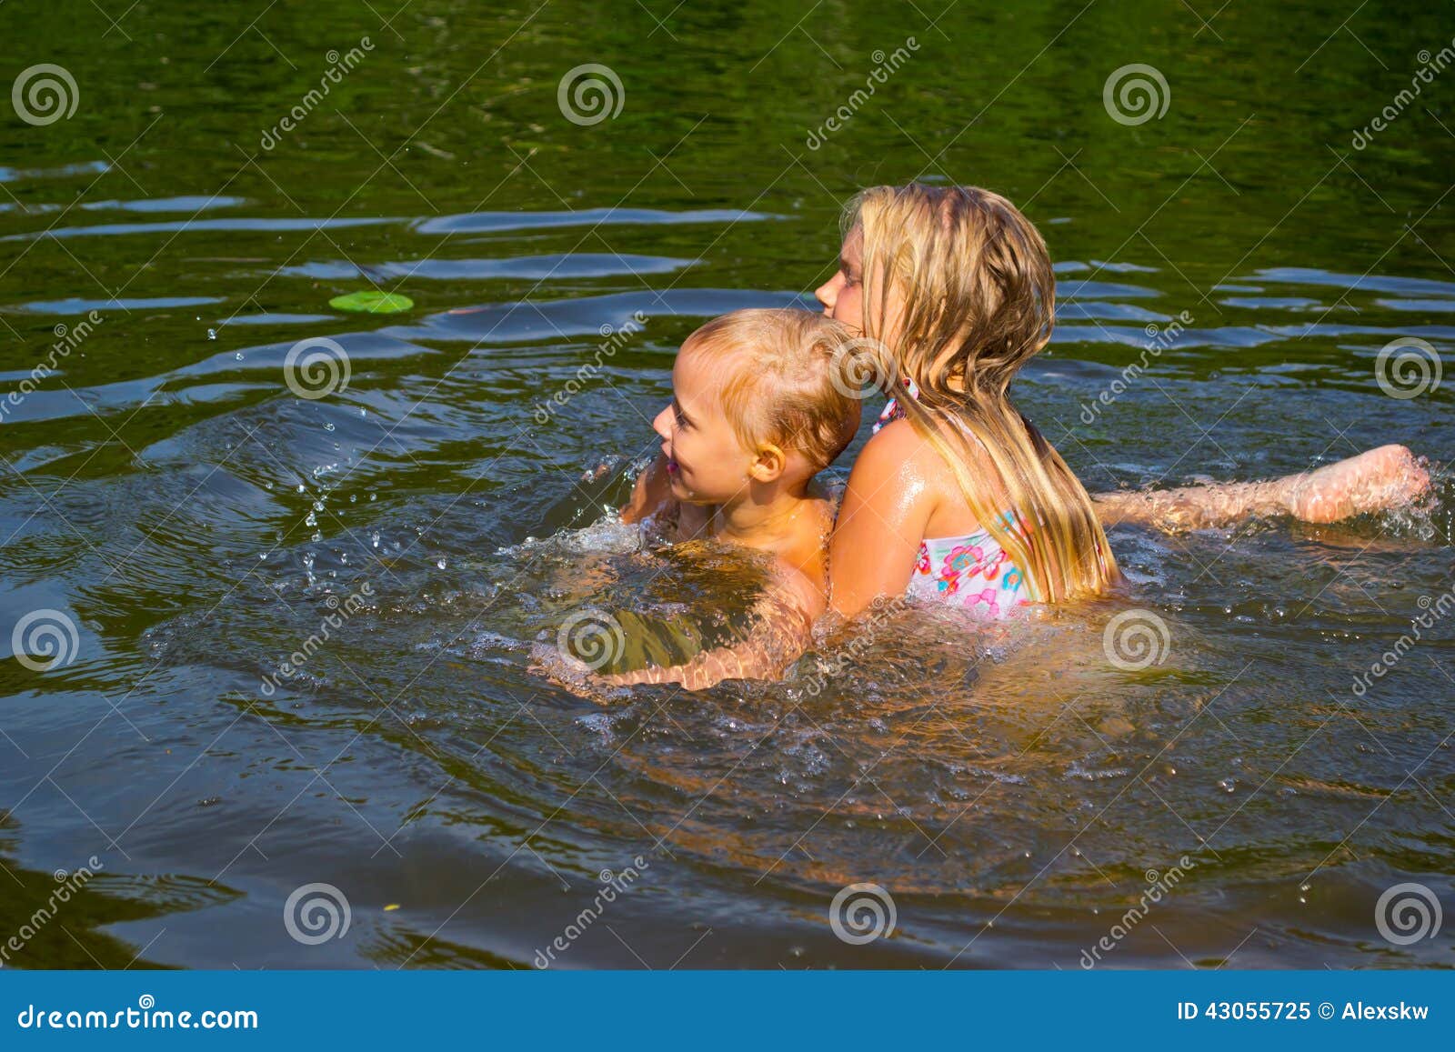
[[[998,194],[924,183],[860,192],[844,211],[844,237],[856,227],[864,336],[885,359],[886,393],[949,464],[1037,601],[1107,591],[1120,575],[1091,498],[1007,396],[1055,324],[1040,233]],[[917,399],[905,397],[904,381]],[[972,466],[994,480],[976,479]]]

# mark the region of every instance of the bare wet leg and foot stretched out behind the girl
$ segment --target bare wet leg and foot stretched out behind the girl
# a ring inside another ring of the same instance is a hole
[[[1381,445],[1315,471],[1272,482],[1232,482],[1139,493],[1097,493],[1103,525],[1135,522],[1158,530],[1228,525],[1250,515],[1292,515],[1336,522],[1408,503],[1430,476],[1403,445]]]

